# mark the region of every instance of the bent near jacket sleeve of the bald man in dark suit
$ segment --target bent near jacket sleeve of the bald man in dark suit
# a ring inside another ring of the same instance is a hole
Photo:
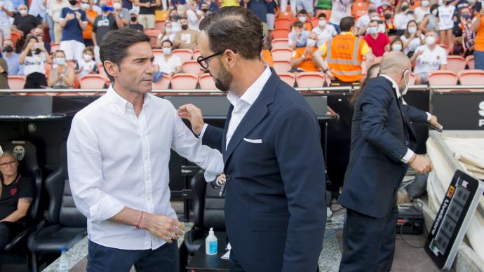
[[[386,84],[380,83],[378,80],[370,81],[359,98],[361,134],[366,142],[382,151],[392,161],[400,162],[408,148],[386,128],[387,123],[392,121],[389,120],[388,112],[394,96],[383,87]]]

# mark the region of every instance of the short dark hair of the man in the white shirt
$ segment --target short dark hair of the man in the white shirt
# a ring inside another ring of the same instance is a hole
[[[118,30],[107,32],[102,38],[99,50],[102,66],[104,67],[106,60],[119,66],[126,55],[128,55],[128,47],[140,42],[149,43],[149,36],[144,34],[144,32],[138,32],[135,29],[123,27]],[[104,69],[109,80],[114,82],[114,78],[106,71],[106,67],[104,67]]]

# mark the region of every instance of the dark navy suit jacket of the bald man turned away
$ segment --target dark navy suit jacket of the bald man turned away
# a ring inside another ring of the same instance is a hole
[[[363,215],[387,215],[408,168],[401,158],[408,148],[415,149],[411,123],[426,120],[425,111],[409,105],[399,109],[388,79],[368,81],[354,109],[349,165],[338,202]]]

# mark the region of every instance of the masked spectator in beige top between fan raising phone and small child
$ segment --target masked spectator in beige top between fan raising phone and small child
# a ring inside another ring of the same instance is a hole
[[[54,65],[48,76],[47,86],[54,89],[69,89],[74,87],[75,77],[74,68],[67,65],[64,51],[55,51]]]

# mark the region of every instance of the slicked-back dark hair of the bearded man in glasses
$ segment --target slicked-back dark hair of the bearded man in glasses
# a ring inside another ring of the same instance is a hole
[[[262,23],[252,11],[226,6],[203,18],[199,28],[206,32],[214,53],[230,49],[246,59],[260,59],[264,34]]]

